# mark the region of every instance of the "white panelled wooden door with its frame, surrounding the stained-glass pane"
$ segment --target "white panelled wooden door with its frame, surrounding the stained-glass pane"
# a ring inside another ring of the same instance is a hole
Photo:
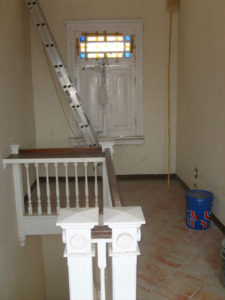
[[[106,137],[143,136],[143,22],[140,20],[68,21],[68,67],[81,103],[95,132]],[[107,105],[99,101],[102,74],[101,60],[81,59],[76,52],[76,40],[82,32],[120,32],[134,37],[130,59],[106,61]],[[98,71],[96,68],[98,67]],[[93,70],[95,69],[95,70]],[[75,125],[76,132],[80,129]]]

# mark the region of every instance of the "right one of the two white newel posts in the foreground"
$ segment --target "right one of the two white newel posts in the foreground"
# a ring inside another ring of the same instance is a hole
[[[112,228],[113,300],[136,300],[137,255],[140,227],[145,224],[141,207],[104,209],[104,224]]]

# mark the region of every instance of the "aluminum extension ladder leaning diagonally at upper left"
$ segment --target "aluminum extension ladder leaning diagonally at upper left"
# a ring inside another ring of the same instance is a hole
[[[64,94],[68,99],[68,102],[81,129],[81,132],[88,145],[90,147],[95,147],[97,145],[97,141],[94,132],[91,128],[88,118],[85,115],[84,109],[79,100],[77,90],[69,77],[69,73],[63,64],[59,51],[57,50],[55,41],[44,18],[41,7],[37,1],[25,1],[29,8],[33,22],[40,33],[46,52],[48,53],[49,59],[53,65]]]

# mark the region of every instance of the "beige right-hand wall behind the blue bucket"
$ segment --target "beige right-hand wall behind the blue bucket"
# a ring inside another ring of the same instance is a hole
[[[181,1],[177,174],[214,192],[214,212],[225,224],[224,16],[224,0]]]

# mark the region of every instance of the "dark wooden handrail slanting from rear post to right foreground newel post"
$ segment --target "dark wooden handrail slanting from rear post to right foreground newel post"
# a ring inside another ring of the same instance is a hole
[[[106,170],[108,174],[108,182],[109,182],[112,204],[115,207],[122,206],[119,185],[116,179],[111,152],[109,149],[105,150],[105,163],[106,163]]]

